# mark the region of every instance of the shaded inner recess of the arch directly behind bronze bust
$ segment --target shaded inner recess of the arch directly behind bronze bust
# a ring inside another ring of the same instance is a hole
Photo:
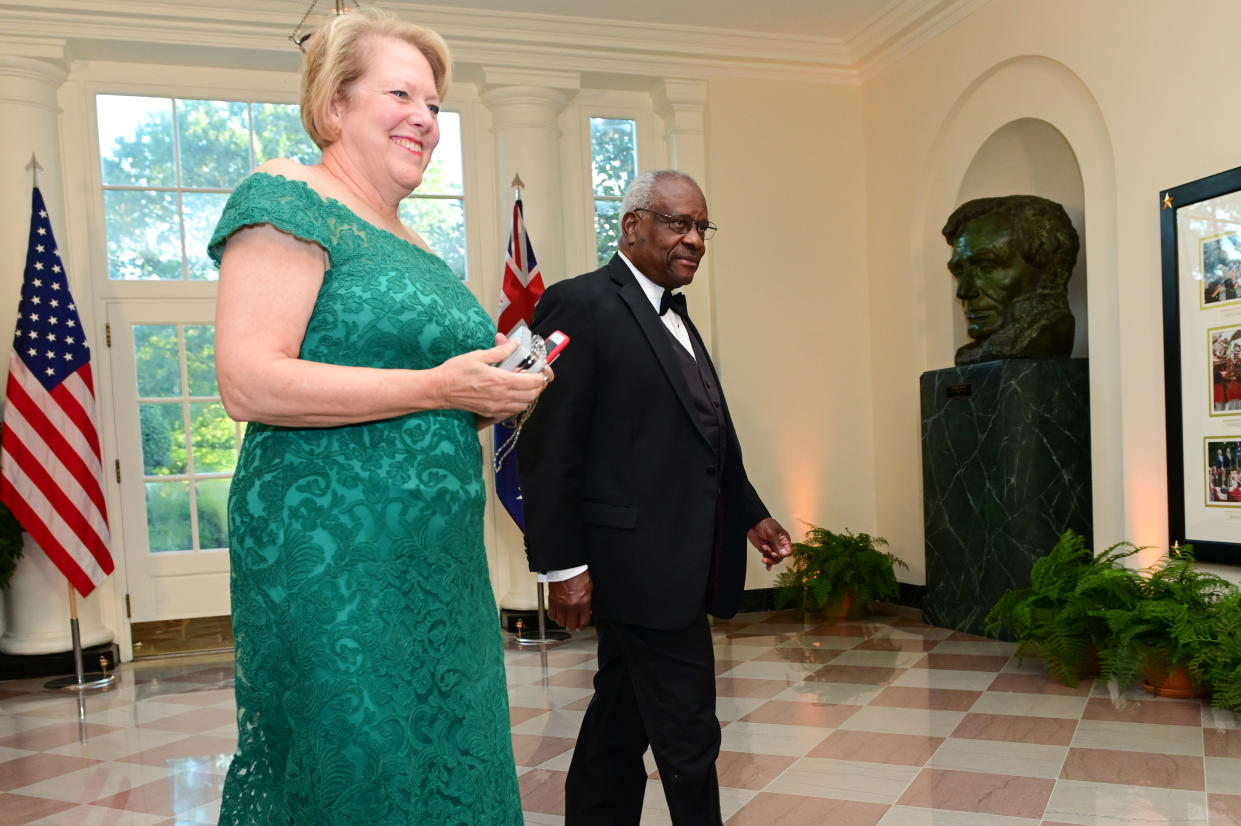
[[[1086,301],[1086,208],[1082,176],[1069,141],[1046,120],[1021,118],[992,133],[965,170],[957,203],[1005,195],[1037,195],[1055,201],[1065,207],[1077,231],[1081,249],[1069,280],[1069,309],[1076,320],[1072,356],[1086,357],[1090,314]],[[944,260],[949,253],[946,243]],[[949,285],[953,284],[951,277],[948,280]],[[954,345],[961,346],[968,340],[964,315],[958,311],[953,316]]]

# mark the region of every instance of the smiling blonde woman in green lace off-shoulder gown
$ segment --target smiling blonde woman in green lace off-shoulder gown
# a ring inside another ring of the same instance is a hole
[[[249,422],[230,496],[238,750],[220,822],[521,822],[477,428],[549,375],[397,220],[448,52],[376,10],[308,43],[315,166],[261,166],[211,239],[216,370]]]

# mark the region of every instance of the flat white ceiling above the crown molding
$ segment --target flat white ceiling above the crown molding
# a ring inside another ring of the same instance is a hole
[[[519,11],[652,26],[702,26],[849,42],[906,0],[416,0],[419,6]],[[330,0],[319,0],[330,6]]]

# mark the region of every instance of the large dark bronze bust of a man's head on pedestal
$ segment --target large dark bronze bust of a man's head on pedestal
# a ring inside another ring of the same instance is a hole
[[[957,350],[957,365],[1072,352],[1069,278],[1078,242],[1062,206],[1034,195],[967,201],[943,237],[973,340]]]

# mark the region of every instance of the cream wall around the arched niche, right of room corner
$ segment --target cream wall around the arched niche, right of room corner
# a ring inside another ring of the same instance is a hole
[[[871,294],[877,466],[917,454],[917,375],[952,363],[934,224],[997,129],[1041,119],[1082,175],[1096,541],[1165,546],[1158,196],[1241,162],[1239,26],[1227,0],[992,0],[864,83],[869,265],[908,286],[901,301]],[[913,352],[892,327],[912,332]],[[880,497],[879,522],[921,561],[911,508]]]

